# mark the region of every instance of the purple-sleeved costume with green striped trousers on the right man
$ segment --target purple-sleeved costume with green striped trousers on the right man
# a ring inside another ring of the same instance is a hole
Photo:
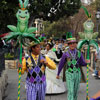
[[[68,38],[68,43],[73,42],[76,42],[75,38]],[[68,48],[68,50],[63,53],[61,61],[59,63],[57,74],[58,76],[64,65],[66,67],[65,76],[68,89],[67,100],[77,100],[77,94],[81,79],[80,66],[86,66],[82,53],[77,49],[71,50],[70,48]]]

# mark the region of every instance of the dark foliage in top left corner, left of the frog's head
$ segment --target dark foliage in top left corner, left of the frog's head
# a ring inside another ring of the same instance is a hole
[[[0,0],[0,34],[8,32],[7,25],[15,24],[18,0]]]

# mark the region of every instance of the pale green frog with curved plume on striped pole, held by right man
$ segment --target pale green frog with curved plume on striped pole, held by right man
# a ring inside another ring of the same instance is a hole
[[[81,8],[83,8],[83,10],[85,11],[88,20],[83,24],[84,32],[79,32],[79,36],[82,40],[78,43],[77,48],[81,50],[84,44],[88,45],[86,59],[89,59],[91,45],[93,45],[97,49],[97,51],[99,50],[98,44],[94,40],[98,36],[98,32],[93,33],[94,23],[91,20],[91,15],[88,13],[87,9],[84,6],[82,6]],[[88,80],[89,80],[89,63],[87,64],[86,100],[90,100],[88,95],[88,87],[89,87]]]

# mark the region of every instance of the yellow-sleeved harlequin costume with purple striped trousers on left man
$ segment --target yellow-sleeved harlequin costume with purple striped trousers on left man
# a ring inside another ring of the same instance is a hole
[[[31,45],[32,46],[32,45]],[[47,56],[31,53],[30,56],[23,60],[21,73],[27,72],[26,78],[26,95],[27,100],[45,100],[46,92],[46,65],[40,61],[45,59],[48,62],[48,68],[56,69],[55,63]],[[49,76],[50,77],[50,76]]]

